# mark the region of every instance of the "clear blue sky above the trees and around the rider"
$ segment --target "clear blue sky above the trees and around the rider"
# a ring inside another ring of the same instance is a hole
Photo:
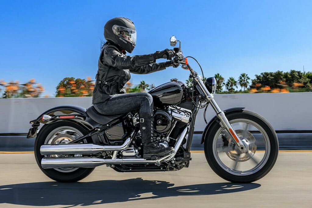
[[[311,8],[312,1],[0,1],[0,80],[35,78],[52,96],[64,77],[94,78],[103,26],[120,16],[137,28],[131,55],[170,48],[176,35],[205,77],[311,71]],[[188,71],[170,67],[131,81],[171,78],[185,81]]]

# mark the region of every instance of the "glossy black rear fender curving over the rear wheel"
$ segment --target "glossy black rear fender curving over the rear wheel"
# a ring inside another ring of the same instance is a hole
[[[42,121],[42,115],[49,116],[75,115],[75,118]],[[75,122],[80,126],[84,127],[86,130],[92,130],[95,128],[95,126],[99,126],[98,123],[89,118],[89,116],[86,114],[85,108],[82,108],[80,106],[56,106],[43,112],[40,116],[37,117],[37,119],[30,121],[30,123],[32,124],[32,128],[29,129],[27,138],[33,138],[37,135],[37,129],[40,123],[50,124],[61,120]]]

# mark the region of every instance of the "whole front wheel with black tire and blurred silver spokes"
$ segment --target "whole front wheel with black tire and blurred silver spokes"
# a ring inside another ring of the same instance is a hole
[[[209,166],[218,176],[234,183],[259,180],[272,169],[277,159],[278,139],[273,127],[251,111],[226,116],[248,150],[241,153],[225,127],[215,122],[204,144]]]

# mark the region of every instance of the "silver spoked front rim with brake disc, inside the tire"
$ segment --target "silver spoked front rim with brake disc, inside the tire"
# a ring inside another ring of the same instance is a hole
[[[241,153],[227,130],[220,126],[213,138],[213,155],[218,164],[233,175],[251,175],[259,171],[270,153],[269,137],[265,130],[256,122],[248,119],[234,119],[231,122],[237,136],[246,146],[246,152]],[[251,132],[259,132],[253,136]],[[261,151],[257,152],[257,146]]]

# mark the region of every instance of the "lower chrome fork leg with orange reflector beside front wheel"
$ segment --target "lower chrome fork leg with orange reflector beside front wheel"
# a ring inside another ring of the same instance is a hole
[[[241,152],[245,152],[246,151],[245,145],[243,144],[241,139],[237,136],[236,131],[233,129],[232,125],[227,120],[227,117],[225,116],[225,113],[223,111],[221,111],[221,109],[219,108],[217,102],[213,98],[209,102],[210,102],[213,110],[216,111],[217,117],[218,117],[218,119],[220,119],[221,124],[226,128],[227,132],[232,136],[233,141],[238,146],[238,149]]]

